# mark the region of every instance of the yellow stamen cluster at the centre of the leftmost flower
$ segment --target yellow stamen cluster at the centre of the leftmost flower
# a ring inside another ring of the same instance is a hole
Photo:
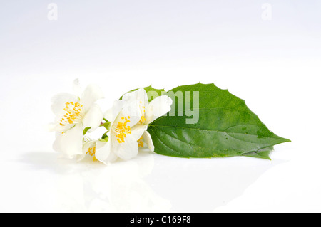
[[[83,117],[81,107],[83,107],[83,105],[80,105],[79,102],[66,102],[66,107],[63,108],[65,113],[60,120],[60,125],[65,126],[67,124],[80,122]]]

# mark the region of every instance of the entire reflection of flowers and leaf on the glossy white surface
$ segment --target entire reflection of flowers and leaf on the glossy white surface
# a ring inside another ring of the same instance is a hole
[[[31,167],[31,175],[49,174],[43,178],[51,179],[55,201],[46,210],[62,212],[211,212],[241,196],[281,162],[141,153],[130,161],[105,166],[56,159],[56,154],[45,152],[28,153],[22,161]]]

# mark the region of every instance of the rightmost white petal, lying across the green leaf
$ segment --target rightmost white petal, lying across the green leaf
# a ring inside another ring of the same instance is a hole
[[[167,95],[158,96],[153,99],[146,107],[145,124],[148,125],[158,117],[161,117],[162,115],[165,115],[167,112],[169,112],[172,102],[173,100]]]

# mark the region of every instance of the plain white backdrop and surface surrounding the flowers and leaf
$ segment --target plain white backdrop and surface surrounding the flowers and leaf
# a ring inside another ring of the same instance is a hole
[[[320,212],[321,1],[3,1],[0,211]],[[215,83],[292,140],[272,161],[59,159],[51,97]]]

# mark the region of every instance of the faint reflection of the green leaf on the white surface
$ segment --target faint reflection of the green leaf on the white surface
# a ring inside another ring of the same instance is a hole
[[[241,196],[265,171],[281,160],[248,157],[225,159],[158,159],[148,182],[170,200],[177,212],[211,212]]]

